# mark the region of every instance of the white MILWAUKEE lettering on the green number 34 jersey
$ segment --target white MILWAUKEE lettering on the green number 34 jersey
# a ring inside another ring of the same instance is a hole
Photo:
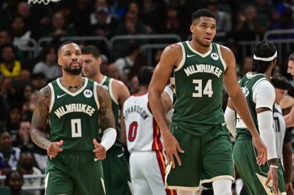
[[[221,69],[214,67],[213,65],[191,65],[186,67],[184,71],[187,76],[190,76],[194,73],[213,73],[218,78],[220,78],[221,73],[223,73]]]

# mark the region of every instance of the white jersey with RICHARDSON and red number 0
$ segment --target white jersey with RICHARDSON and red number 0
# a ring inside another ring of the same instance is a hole
[[[129,152],[163,149],[159,126],[148,108],[148,93],[128,98],[123,115]]]

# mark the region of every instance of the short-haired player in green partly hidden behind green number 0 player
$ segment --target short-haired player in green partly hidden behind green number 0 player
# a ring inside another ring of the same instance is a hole
[[[98,82],[98,84],[104,85],[109,91],[115,117],[117,139],[115,144],[107,151],[106,159],[102,161],[106,194],[131,194],[128,187],[128,181],[131,182],[128,162],[124,157],[124,150],[120,142],[120,128],[124,128],[124,119],[120,119],[120,109],[122,109],[124,101],[128,99],[130,93],[123,82],[102,75],[100,72],[102,58],[97,47],[88,45],[82,48],[82,58],[84,60],[82,65],[83,75]]]

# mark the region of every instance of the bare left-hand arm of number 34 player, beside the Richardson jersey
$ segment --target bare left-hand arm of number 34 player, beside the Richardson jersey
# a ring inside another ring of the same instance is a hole
[[[168,163],[172,162],[172,167],[175,167],[174,157],[177,159],[179,165],[181,160],[177,151],[183,152],[177,139],[175,139],[170,133],[168,124],[166,124],[165,111],[163,102],[161,100],[161,94],[168,84],[168,79],[172,73],[174,67],[179,65],[179,61],[182,59],[181,45],[173,44],[163,50],[160,61],[155,67],[153,76],[148,89],[148,100],[157,124],[161,130],[163,136],[163,147],[168,157]]]

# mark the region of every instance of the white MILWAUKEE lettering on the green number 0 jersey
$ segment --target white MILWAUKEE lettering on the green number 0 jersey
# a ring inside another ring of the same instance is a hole
[[[87,104],[66,104],[65,106],[60,106],[56,109],[56,111],[54,111],[58,118],[62,117],[67,113],[74,112],[86,113],[92,116],[95,112],[95,108],[92,108],[92,106],[89,106]]]

